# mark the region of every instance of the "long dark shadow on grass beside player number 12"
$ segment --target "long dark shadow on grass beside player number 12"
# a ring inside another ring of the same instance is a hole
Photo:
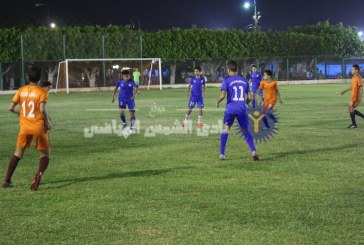
[[[82,182],[90,181],[100,181],[100,180],[111,180],[111,179],[122,179],[122,178],[133,178],[133,177],[150,177],[156,175],[162,175],[169,173],[177,169],[190,169],[192,167],[180,167],[180,168],[170,168],[170,169],[158,169],[158,170],[141,170],[141,171],[131,171],[124,173],[111,173],[103,176],[85,176],[73,179],[63,179],[44,183],[47,189],[58,189],[66,186],[70,186]],[[53,185],[56,184],[56,185]]]

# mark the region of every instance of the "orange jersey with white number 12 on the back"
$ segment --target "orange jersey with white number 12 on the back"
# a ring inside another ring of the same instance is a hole
[[[26,85],[16,92],[13,102],[20,106],[20,128],[29,134],[44,131],[40,104],[47,102],[48,92],[37,85]]]

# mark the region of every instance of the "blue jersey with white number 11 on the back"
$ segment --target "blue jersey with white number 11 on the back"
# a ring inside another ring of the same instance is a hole
[[[229,110],[245,109],[246,94],[250,92],[246,78],[235,75],[224,79],[221,90],[227,93],[226,108]]]

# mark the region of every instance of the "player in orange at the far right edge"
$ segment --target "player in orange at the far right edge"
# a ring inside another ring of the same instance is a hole
[[[344,95],[346,92],[351,90],[351,98],[349,102],[351,125],[348,128],[357,128],[358,125],[356,125],[355,115],[364,118],[364,115],[360,111],[355,110],[359,106],[363,96],[363,81],[359,75],[359,65],[353,65],[351,67],[351,74],[353,75],[353,78],[351,79],[351,87],[342,91],[341,95]]]

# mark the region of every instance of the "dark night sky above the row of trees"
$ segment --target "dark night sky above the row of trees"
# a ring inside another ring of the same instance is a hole
[[[285,30],[288,26],[330,20],[364,29],[364,0],[256,0],[263,30]],[[242,8],[244,0],[5,0],[0,8],[0,26],[45,24],[49,16],[57,25],[130,25],[153,31],[192,25],[243,28],[253,22],[253,8]]]

